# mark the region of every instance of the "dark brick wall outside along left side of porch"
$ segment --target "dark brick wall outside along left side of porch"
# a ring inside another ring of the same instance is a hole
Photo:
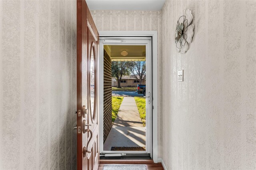
[[[104,142],[112,127],[112,71],[111,59],[104,50]]]

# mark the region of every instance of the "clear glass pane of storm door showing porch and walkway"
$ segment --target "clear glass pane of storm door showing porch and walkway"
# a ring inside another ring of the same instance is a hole
[[[104,47],[111,52],[104,50],[103,149],[147,155],[146,45]]]

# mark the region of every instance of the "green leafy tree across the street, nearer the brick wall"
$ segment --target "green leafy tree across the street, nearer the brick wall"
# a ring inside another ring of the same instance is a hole
[[[129,75],[129,67],[127,61],[112,61],[112,77],[117,80],[117,88],[121,88],[121,79],[124,75]]]

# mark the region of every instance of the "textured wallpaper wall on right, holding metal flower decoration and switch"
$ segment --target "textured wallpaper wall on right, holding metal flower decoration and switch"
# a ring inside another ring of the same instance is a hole
[[[194,37],[181,55],[174,34],[186,9]],[[166,1],[160,157],[168,170],[256,169],[255,9],[256,1]]]

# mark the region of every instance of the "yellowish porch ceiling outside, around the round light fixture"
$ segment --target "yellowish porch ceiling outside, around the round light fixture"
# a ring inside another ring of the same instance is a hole
[[[104,45],[111,61],[146,61],[146,45]],[[128,55],[122,56],[125,50]]]

